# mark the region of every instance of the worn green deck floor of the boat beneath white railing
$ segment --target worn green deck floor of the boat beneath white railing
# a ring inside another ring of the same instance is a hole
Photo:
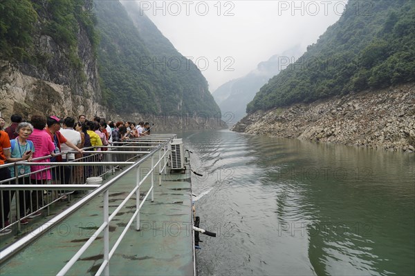
[[[145,164],[142,165],[145,168]],[[110,188],[110,214],[135,186],[135,170]],[[157,175],[158,177],[158,175]],[[127,235],[109,263],[110,275],[194,275],[192,244],[192,193],[190,175],[162,175],[162,186],[154,177],[154,202],[151,196],[140,212],[141,230],[131,224]],[[141,193],[147,192],[143,184]],[[37,239],[0,267],[1,275],[56,275],[75,252],[102,224],[102,196],[95,197],[49,233]],[[133,196],[110,223],[110,248],[135,212]],[[42,217],[22,228],[47,221]],[[0,253],[1,254],[1,253]],[[102,234],[82,255],[67,275],[95,275],[102,264]]]

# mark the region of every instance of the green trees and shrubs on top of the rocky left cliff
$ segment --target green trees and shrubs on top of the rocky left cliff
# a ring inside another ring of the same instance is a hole
[[[71,64],[81,68],[77,55],[77,36],[80,26],[96,48],[99,37],[95,32],[96,19],[85,0],[3,0],[0,2],[0,47],[2,57],[17,61],[41,64],[44,55],[37,53],[33,37],[47,34],[62,46],[68,48]],[[39,21],[39,23],[37,23]]]

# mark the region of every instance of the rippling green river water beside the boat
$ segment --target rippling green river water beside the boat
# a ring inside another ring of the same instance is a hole
[[[184,132],[199,275],[415,275],[415,155]]]

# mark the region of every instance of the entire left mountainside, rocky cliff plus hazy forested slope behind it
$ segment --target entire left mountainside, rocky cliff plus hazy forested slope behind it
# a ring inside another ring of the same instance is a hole
[[[220,110],[200,70],[147,17],[128,14],[119,1],[3,0],[0,12],[6,119],[12,113],[202,117],[217,125]],[[212,127],[200,120],[179,125]]]

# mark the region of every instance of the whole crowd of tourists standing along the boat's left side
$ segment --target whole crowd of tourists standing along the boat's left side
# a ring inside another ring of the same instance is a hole
[[[85,115],[80,115],[77,121],[73,117],[60,119],[56,116],[33,115],[30,121],[25,121],[21,115],[14,114],[10,117],[11,124],[7,128],[6,120],[0,117],[0,181],[10,179],[10,184],[40,184],[50,183],[51,179],[59,179],[63,184],[69,184],[71,176],[84,175],[81,166],[63,166],[62,170],[55,172],[45,170],[45,166],[10,166],[17,161],[32,161],[37,157],[37,162],[66,162],[80,159],[84,155],[83,148],[108,146],[120,143],[126,139],[150,135],[150,124],[140,121],[138,124],[132,121],[107,121],[104,118],[94,117],[90,121]],[[60,155],[61,152],[76,151]],[[102,150],[106,150],[105,147]],[[50,157],[50,158],[46,158]],[[17,169],[15,169],[17,168]],[[30,174],[30,172],[33,172]],[[57,175],[53,175],[53,174]],[[24,176],[19,177],[17,176]],[[15,178],[13,178],[15,177]],[[17,183],[16,183],[17,179]],[[30,210],[39,209],[39,198],[42,191],[21,190],[19,197],[19,215],[25,217]],[[0,236],[12,233],[8,227],[10,202],[15,195],[14,190],[3,190],[0,204]],[[28,224],[28,219],[42,215],[39,211],[30,213],[27,218],[20,219],[20,224]]]

